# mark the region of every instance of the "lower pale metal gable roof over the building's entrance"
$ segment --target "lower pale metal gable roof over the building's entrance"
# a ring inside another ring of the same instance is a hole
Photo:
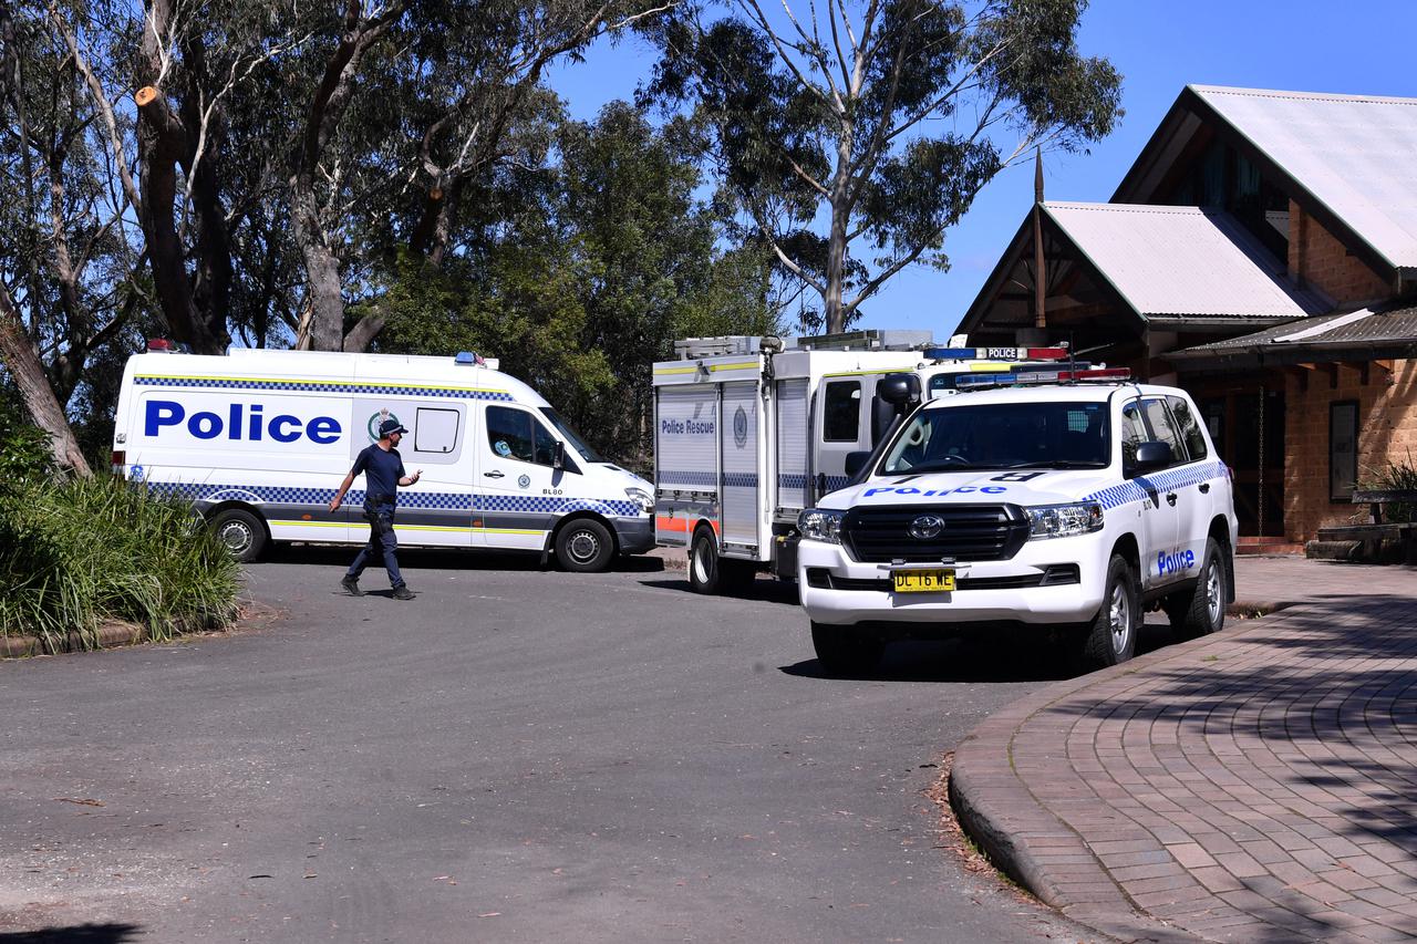
[[[1289,320],[1325,310],[1229,213],[1200,207],[1044,203],[1049,218],[1151,322]]]

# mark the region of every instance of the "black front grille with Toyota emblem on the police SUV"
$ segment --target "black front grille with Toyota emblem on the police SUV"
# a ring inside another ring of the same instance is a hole
[[[935,515],[944,527],[920,539],[910,526]],[[842,544],[853,560],[1009,560],[1029,539],[1029,520],[1013,505],[925,505],[917,507],[853,507],[842,520]]]

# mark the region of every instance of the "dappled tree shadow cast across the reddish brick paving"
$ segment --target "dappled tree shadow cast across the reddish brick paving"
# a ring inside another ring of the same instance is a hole
[[[1206,661],[1152,670],[1134,697],[1087,690],[1050,712],[1129,717],[1176,726],[1183,737],[1237,731],[1271,744],[1284,760],[1271,775],[1299,797],[1328,791],[1325,808],[1355,842],[1380,836],[1417,859],[1417,605],[1411,597],[1349,595],[1305,604],[1247,629],[1246,648],[1268,659]],[[1265,629],[1270,632],[1265,632]],[[1332,750],[1329,746],[1339,747]],[[1297,748],[1297,750],[1295,750]],[[1353,797],[1365,799],[1355,802]]]

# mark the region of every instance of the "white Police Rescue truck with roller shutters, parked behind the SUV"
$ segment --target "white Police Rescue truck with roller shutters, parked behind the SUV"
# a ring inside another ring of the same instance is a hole
[[[1022,370],[1066,349],[934,347],[930,332],[690,337],[653,367],[655,537],[689,549],[689,581],[717,592],[767,567],[796,577],[798,515],[843,488],[900,407],[880,395],[908,373],[928,398],[972,373]],[[1015,363],[1009,363],[1015,361]],[[1085,366],[1085,364],[1081,364]]]

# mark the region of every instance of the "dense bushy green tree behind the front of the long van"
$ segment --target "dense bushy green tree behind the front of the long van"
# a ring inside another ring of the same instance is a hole
[[[397,254],[377,302],[351,315],[388,319],[380,350],[497,357],[598,451],[643,468],[650,366],[672,342],[777,327],[768,258],[718,244],[687,139],[623,102],[561,125],[554,169],[468,201],[499,221],[475,252],[439,266]]]

